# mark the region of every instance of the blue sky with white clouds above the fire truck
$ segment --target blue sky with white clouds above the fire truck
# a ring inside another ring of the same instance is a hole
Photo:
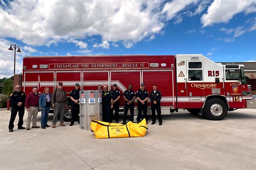
[[[256,61],[256,0],[0,0],[0,78],[25,56],[202,54]],[[17,51],[17,49],[16,49]]]

